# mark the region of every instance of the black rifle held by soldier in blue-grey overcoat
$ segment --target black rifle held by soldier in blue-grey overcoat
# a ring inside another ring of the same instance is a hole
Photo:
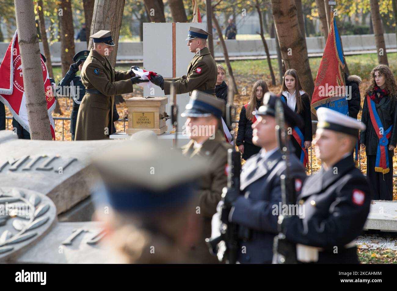
[[[231,82],[229,84],[232,84]],[[226,124],[231,129],[231,134],[234,134],[235,123],[233,123],[232,116],[235,115],[236,110],[233,106],[234,91],[229,86],[226,103]],[[234,202],[240,195],[240,171],[241,171],[241,156],[235,147],[227,150],[227,187],[222,190],[221,207],[221,235],[217,238],[206,238],[206,243],[210,248],[210,253],[218,256],[218,260],[222,261],[225,258],[227,264],[235,264],[237,262],[237,254],[239,248],[239,240],[249,238],[249,229],[239,226],[235,223],[229,222],[229,213]]]

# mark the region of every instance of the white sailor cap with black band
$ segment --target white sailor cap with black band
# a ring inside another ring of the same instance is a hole
[[[365,124],[326,107],[317,109],[317,128],[330,129],[357,137],[357,130],[364,130]]]

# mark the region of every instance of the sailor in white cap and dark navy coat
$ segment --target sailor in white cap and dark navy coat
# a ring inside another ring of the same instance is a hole
[[[304,217],[280,217],[285,238],[297,243],[299,262],[358,263],[355,238],[370,210],[370,187],[351,152],[365,125],[329,108],[318,108],[314,145],[322,169],[303,185]]]

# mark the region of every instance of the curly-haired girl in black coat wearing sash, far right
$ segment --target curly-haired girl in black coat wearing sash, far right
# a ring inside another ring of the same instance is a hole
[[[373,200],[393,200],[393,155],[397,143],[397,85],[386,65],[376,66],[365,91],[360,146],[367,155]]]

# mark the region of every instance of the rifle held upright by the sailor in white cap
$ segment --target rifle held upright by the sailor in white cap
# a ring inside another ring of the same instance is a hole
[[[266,93],[268,94],[268,93]],[[295,193],[295,180],[289,174],[291,162],[289,161],[289,150],[287,133],[284,125],[284,109],[280,98],[276,100],[276,131],[277,131],[277,143],[279,150],[282,155],[282,159],[285,161],[285,175],[281,175],[281,202],[283,205],[295,204],[296,193]],[[279,234],[274,238],[273,244],[273,263],[274,264],[296,264],[296,245],[285,239],[285,235],[281,232],[281,222],[278,221]]]

